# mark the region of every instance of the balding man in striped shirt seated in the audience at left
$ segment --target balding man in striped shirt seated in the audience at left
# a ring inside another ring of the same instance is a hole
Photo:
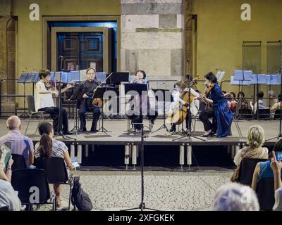
[[[22,128],[20,118],[16,115],[8,117],[6,122],[8,134],[0,138],[0,145],[9,142],[11,143],[11,153],[23,155],[27,167],[33,164],[33,142],[32,140],[20,134]]]

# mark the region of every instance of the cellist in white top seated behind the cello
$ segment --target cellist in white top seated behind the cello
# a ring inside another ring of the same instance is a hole
[[[185,91],[189,91],[189,89],[186,89],[185,84],[183,82],[176,82],[175,84],[175,92],[172,94],[173,96],[173,103],[171,103],[171,107],[169,109],[168,114],[173,114],[173,110],[175,110],[175,108],[178,106],[178,103],[180,102],[180,96],[181,94],[183,94]],[[188,107],[188,111],[187,111],[187,115],[185,117],[185,123],[186,123],[186,129],[187,131],[190,129],[190,124],[191,124],[191,113],[192,115],[197,115],[197,112],[199,110],[199,106],[200,103],[197,100],[197,97],[199,97],[199,94],[194,90],[194,89],[190,89],[191,93],[190,93],[190,98],[192,98],[193,96],[196,96],[195,100],[192,101],[192,103],[190,104],[190,111],[189,111],[189,105],[186,104],[186,106]],[[175,132],[176,131],[176,124],[172,124],[171,125],[171,132]]]

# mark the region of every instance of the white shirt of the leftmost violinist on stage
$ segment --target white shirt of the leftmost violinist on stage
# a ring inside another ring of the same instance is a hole
[[[39,81],[36,85],[39,85],[40,90],[47,91],[43,82]],[[38,111],[40,108],[45,107],[54,107],[52,94],[39,94],[35,86],[35,110]]]

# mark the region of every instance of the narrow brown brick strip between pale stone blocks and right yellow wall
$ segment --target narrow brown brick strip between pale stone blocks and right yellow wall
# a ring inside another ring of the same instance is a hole
[[[185,75],[192,75],[192,0],[185,1]]]

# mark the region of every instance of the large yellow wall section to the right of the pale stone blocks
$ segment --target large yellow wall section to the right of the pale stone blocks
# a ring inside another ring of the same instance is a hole
[[[250,4],[251,21],[240,19],[242,4]],[[242,65],[243,41],[262,41],[262,72],[266,73],[266,41],[282,39],[281,0],[193,0],[192,13],[197,14],[197,72],[203,75],[216,68],[226,71]],[[238,92],[228,84],[223,89]],[[266,95],[266,88],[262,87]],[[278,93],[278,86],[273,87]],[[253,86],[244,89],[252,95]]]

